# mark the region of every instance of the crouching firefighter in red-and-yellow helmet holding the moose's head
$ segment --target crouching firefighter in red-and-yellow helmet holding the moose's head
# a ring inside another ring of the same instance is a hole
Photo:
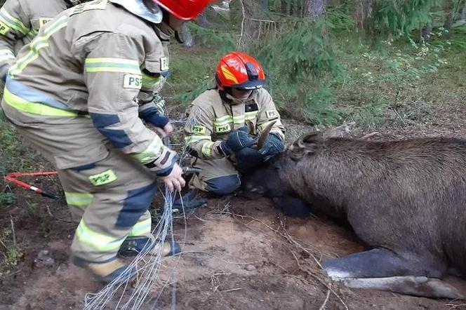
[[[185,144],[201,173],[190,185],[214,194],[230,194],[246,173],[284,149],[284,126],[272,97],[262,88],[265,74],[249,55],[223,56],[215,71],[217,88],[207,90],[189,107]],[[261,149],[256,137],[274,122]]]

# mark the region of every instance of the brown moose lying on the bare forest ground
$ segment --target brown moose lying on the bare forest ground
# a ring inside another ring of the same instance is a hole
[[[299,197],[351,225],[371,250],[324,262],[333,280],[463,298],[441,278],[466,276],[466,140],[371,142],[310,133],[244,184],[283,208]]]

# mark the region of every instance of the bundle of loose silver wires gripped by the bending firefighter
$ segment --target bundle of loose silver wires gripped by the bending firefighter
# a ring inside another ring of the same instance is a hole
[[[197,116],[192,115],[189,117],[189,120],[175,120],[172,123],[179,129],[181,126],[185,126],[185,123],[194,124],[197,120]],[[178,151],[180,154],[180,163],[185,163],[188,161],[188,152],[185,147],[185,144],[182,142],[184,140],[182,130],[176,130],[175,140],[179,143],[173,145],[173,149]],[[172,144],[171,144],[172,146]],[[162,292],[168,287],[172,286],[172,299],[171,299],[171,308],[175,309],[176,301],[176,268],[178,260],[182,256],[176,255],[171,257],[173,262],[173,267],[171,267],[170,276],[159,289],[157,296],[152,298],[152,305],[147,304],[147,297],[149,292],[152,291],[154,284],[159,280],[159,273],[162,267],[162,247],[165,241],[171,241],[173,243],[173,202],[177,195],[180,197],[182,216],[177,218],[183,218],[184,220],[184,236],[180,242],[181,247],[185,246],[185,241],[187,237],[187,222],[185,214],[185,205],[182,201],[182,196],[177,192],[169,192],[167,187],[164,189],[162,194],[164,198],[164,207],[163,213],[161,214],[160,220],[157,223],[156,227],[152,230],[152,235],[154,240],[156,240],[156,245],[159,246],[160,250],[153,250],[153,241],[148,240],[144,248],[138,253],[134,258],[131,264],[128,265],[128,268],[124,273],[114,279],[114,281],[105,285],[102,290],[97,293],[88,293],[84,300],[84,310],[95,310],[95,309],[131,309],[137,310],[141,309],[144,305],[144,309],[156,309],[159,298],[161,297]],[[153,253],[157,254],[154,255]],[[129,276],[129,273],[136,270],[135,280]],[[131,278],[131,279],[130,279]]]

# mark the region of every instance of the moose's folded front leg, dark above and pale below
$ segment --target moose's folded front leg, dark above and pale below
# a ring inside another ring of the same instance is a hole
[[[377,248],[324,262],[328,276],[349,288],[388,290],[434,298],[464,298],[458,290],[439,280],[444,267],[432,267],[420,258],[406,259]]]

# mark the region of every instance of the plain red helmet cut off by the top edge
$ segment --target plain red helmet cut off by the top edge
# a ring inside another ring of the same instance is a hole
[[[194,20],[214,0],[152,0],[180,20]]]

